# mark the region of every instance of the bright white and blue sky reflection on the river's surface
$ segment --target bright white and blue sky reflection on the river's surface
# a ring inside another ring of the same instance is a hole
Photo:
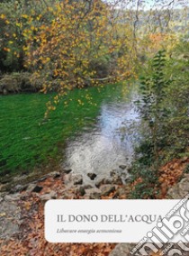
[[[67,167],[89,180],[86,176],[89,172],[103,178],[120,165],[130,166],[139,114],[134,105],[136,93],[133,91],[129,96],[129,99],[127,96],[103,101],[94,126],[85,127],[83,133],[67,143]]]

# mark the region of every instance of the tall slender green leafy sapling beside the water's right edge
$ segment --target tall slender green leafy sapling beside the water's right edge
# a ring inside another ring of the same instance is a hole
[[[153,148],[154,169],[158,169],[160,147],[165,140],[164,124],[169,114],[169,110],[164,105],[166,99],[166,88],[172,83],[171,79],[166,79],[166,52],[160,50],[152,59],[151,73],[145,78],[141,78],[141,113],[143,119],[148,123],[149,138]]]

